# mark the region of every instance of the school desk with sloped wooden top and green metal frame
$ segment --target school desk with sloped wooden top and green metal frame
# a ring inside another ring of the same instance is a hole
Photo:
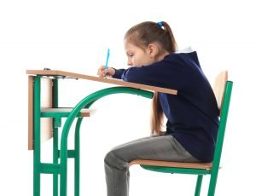
[[[74,159],[74,195],[79,196],[79,131],[83,118],[95,110],[90,106],[105,95],[127,93],[152,98],[154,91],[177,95],[175,89],[128,83],[113,78],[98,78],[59,70],[26,70],[28,74],[28,149],[33,150],[33,196],[40,195],[41,174],[53,175],[53,195],[67,195],[67,159]],[[73,108],[58,107],[58,80],[76,78],[117,85],[86,96]],[[61,118],[67,118],[61,131]],[[77,119],[74,149],[67,149],[67,136],[73,120]],[[52,163],[41,162],[41,141],[53,140]],[[60,176],[60,188],[59,188]],[[60,190],[59,190],[60,189]]]

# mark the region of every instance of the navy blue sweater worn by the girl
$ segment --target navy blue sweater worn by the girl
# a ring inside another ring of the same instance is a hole
[[[173,135],[196,159],[212,161],[218,134],[218,107],[196,52],[166,55],[162,61],[148,66],[117,69],[113,78],[177,89],[177,95],[159,93],[160,105],[168,119],[166,135]]]

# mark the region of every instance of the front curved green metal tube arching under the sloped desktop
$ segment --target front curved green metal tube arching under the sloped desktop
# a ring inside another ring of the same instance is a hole
[[[146,98],[152,98],[154,95],[153,92],[149,92],[143,89],[133,89],[129,87],[113,87],[108,89],[102,89],[91,95],[86,96],[82,101],[79,102],[79,104],[76,107],[73,108],[73,111],[70,113],[64,124],[63,131],[61,134],[61,196],[67,195],[67,136],[74,118],[81,109],[86,107],[92,101],[99,100],[106,95],[118,93],[142,95]]]

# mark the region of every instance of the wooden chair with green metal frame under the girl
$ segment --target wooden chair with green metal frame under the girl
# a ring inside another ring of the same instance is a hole
[[[228,81],[228,72],[219,73],[213,85],[213,91],[218,102],[220,123],[218,127],[218,137],[212,163],[179,163],[136,159],[131,161],[129,166],[132,164],[140,164],[141,167],[146,170],[153,170],[164,173],[197,175],[195,196],[200,195],[203,175],[210,175],[211,179],[208,188],[208,196],[213,196],[218,178],[218,169],[224,142],[224,132],[230,107],[232,85],[233,82]]]

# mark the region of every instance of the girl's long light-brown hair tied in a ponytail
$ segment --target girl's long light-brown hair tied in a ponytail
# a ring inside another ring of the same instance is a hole
[[[172,29],[165,21],[159,23],[146,21],[133,26],[125,33],[125,40],[141,49],[147,48],[149,43],[158,43],[160,45],[160,55],[166,51],[172,54],[177,50]],[[155,92],[151,112],[152,135],[160,135],[163,118],[164,114],[160,107],[159,94]]]

